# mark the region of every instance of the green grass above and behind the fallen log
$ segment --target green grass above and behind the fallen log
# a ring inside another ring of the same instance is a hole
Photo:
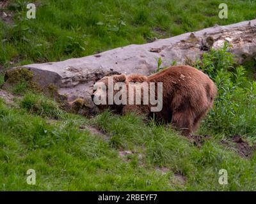
[[[36,19],[28,20],[26,1],[11,2],[5,10],[13,11],[13,24],[0,19],[0,64],[5,68],[83,57],[256,17],[254,0],[45,0],[37,6]],[[228,5],[227,19],[218,17],[220,3]]]

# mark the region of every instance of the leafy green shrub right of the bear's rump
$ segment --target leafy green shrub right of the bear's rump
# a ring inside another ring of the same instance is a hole
[[[226,135],[256,135],[256,83],[245,77],[243,66],[236,66],[228,45],[204,53],[202,61],[195,66],[209,75],[218,87],[214,108],[204,127]]]

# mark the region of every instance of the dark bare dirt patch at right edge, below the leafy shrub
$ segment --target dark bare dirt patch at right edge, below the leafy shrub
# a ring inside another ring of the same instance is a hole
[[[231,142],[222,140],[221,143],[227,147],[232,147],[241,157],[250,158],[256,150],[256,145],[250,146],[240,135],[231,137]]]

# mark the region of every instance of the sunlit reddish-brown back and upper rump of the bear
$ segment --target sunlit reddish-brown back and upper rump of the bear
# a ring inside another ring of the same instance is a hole
[[[148,82],[162,82],[164,94],[179,95],[180,100],[189,99],[193,105],[203,100],[206,106],[211,106],[217,94],[211,78],[191,66],[172,66],[150,75]]]

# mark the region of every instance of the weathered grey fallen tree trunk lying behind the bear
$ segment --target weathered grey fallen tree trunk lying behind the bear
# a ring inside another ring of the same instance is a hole
[[[55,85],[58,93],[67,96],[68,101],[83,98],[92,105],[93,83],[101,77],[116,73],[150,75],[157,69],[159,57],[162,66],[170,66],[173,61],[186,64],[211,47],[222,47],[225,41],[232,45],[230,52],[236,54],[237,62],[255,57],[256,20],[216,25],[144,45],[129,45],[61,62],[29,64],[23,68],[34,73],[33,80],[40,86]]]

